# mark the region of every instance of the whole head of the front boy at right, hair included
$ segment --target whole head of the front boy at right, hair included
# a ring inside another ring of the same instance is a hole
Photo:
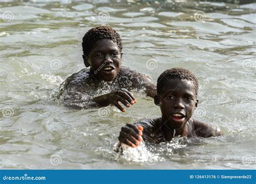
[[[165,70],[157,80],[154,103],[160,105],[162,117],[172,126],[184,124],[198,105],[197,77],[184,68]]]

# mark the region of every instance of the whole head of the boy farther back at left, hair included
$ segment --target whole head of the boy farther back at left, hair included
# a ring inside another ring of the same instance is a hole
[[[120,70],[122,40],[110,26],[93,27],[83,37],[83,59],[96,79],[112,81]]]

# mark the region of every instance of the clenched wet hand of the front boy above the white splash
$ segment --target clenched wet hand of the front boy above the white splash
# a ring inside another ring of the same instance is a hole
[[[120,143],[124,143],[131,147],[139,146],[140,141],[142,141],[142,126],[126,124],[122,127],[118,140]]]

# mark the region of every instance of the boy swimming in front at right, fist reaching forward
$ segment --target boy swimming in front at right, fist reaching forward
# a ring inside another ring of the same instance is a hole
[[[140,141],[161,143],[173,137],[220,136],[219,129],[191,118],[198,106],[197,77],[184,68],[171,68],[157,80],[154,103],[160,106],[161,117],[145,119],[122,127],[119,143],[136,147]]]

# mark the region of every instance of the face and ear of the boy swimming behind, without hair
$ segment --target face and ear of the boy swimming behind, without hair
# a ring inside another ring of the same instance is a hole
[[[96,79],[112,81],[116,78],[122,61],[122,53],[111,39],[100,39],[91,48],[89,59],[85,59],[86,67],[91,67],[91,73]]]

